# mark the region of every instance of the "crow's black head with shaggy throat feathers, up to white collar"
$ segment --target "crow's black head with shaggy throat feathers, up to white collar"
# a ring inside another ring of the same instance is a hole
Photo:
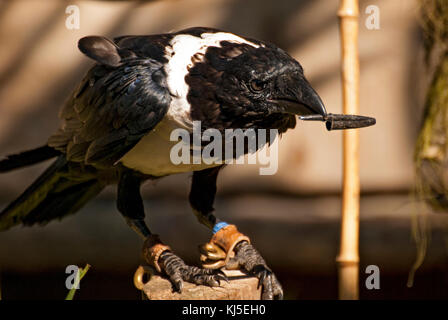
[[[326,115],[299,62],[272,44],[223,40],[192,62],[185,79],[195,120],[213,120],[208,119],[213,114],[223,122],[233,120],[232,126],[247,127],[291,122],[295,115]]]

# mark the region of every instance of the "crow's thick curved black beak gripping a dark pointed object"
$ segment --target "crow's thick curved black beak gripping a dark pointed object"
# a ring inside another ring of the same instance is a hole
[[[286,90],[287,95],[274,100],[280,112],[298,116],[327,115],[322,99],[305,78],[300,79],[298,83],[296,80],[291,85],[293,87]]]

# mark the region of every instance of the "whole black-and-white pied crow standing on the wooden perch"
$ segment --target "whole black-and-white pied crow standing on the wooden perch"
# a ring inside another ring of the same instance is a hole
[[[202,249],[204,264],[238,265],[260,279],[262,298],[282,298],[280,283],[249,238],[213,215],[224,165],[173,164],[170,132],[191,131],[198,120],[203,130],[283,133],[295,127],[296,115],[326,116],[301,65],[270,43],[202,27],[113,41],[89,36],[78,47],[96,63],[62,108],[58,131],[46,145],[0,161],[6,172],[56,158],[0,213],[0,230],[60,219],[117,184],[118,210],[146,239],[144,256],[174,289],[182,290],[183,281],[216,286],[226,280],[222,272],[186,265],[144,222],[142,182],[193,172],[191,206],[214,232]]]

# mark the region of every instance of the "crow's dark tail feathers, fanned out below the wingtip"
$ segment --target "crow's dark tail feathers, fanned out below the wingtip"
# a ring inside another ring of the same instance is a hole
[[[20,155],[18,157],[22,159]],[[37,158],[33,161],[23,160],[17,166],[8,164],[8,159],[0,162],[6,163],[1,168],[17,168],[38,162]],[[73,177],[65,157],[61,155],[28,189],[0,212],[0,231],[18,224],[45,224],[53,219],[61,219],[78,211],[103,188],[104,185],[94,177]]]

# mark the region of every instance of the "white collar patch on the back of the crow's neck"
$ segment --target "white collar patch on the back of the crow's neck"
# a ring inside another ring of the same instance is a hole
[[[171,40],[170,47],[167,48],[165,54],[168,59],[168,63],[165,65],[167,85],[173,96],[168,115],[185,123],[185,117],[189,115],[191,107],[187,101],[188,85],[185,82],[188,68],[193,65],[193,57],[203,56],[208,47],[221,47],[221,41],[248,44],[254,48],[260,47],[227,32],[203,33],[201,37],[179,34]]]

